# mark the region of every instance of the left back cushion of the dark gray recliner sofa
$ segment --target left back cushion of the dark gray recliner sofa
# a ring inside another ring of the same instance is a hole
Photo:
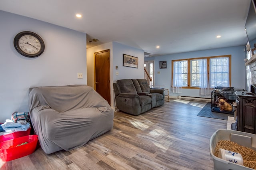
[[[137,94],[136,88],[131,79],[117,80],[121,93],[134,93]]]

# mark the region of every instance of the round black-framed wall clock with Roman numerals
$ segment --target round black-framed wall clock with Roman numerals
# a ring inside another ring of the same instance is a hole
[[[44,41],[34,32],[18,33],[13,43],[18,53],[25,57],[38,57],[44,52]]]

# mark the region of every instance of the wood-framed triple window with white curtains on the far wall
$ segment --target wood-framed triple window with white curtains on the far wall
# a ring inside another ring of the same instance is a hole
[[[172,87],[199,89],[205,86],[205,81],[211,88],[228,87],[231,81],[231,55],[172,60],[172,75]]]

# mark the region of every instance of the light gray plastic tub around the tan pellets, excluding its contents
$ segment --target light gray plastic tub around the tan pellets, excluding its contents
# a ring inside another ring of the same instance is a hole
[[[216,130],[210,138],[210,155],[213,159],[214,170],[253,170],[252,168],[228,162],[227,160],[214,156],[215,146],[220,140],[230,140],[240,144],[241,146],[246,146],[256,150],[256,134],[236,130],[219,129]]]

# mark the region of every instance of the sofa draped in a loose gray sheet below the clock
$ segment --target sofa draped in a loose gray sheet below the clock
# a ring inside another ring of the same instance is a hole
[[[87,85],[31,88],[29,108],[47,154],[83,146],[113,127],[114,110]]]

